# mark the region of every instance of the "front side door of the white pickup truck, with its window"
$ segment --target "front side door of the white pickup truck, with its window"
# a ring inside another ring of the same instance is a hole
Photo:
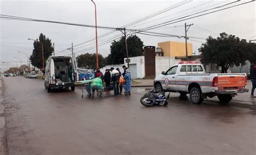
[[[176,84],[176,79],[177,79],[177,68],[178,66],[173,66],[165,74],[165,85],[167,89],[170,90],[176,90],[177,89],[177,84]]]

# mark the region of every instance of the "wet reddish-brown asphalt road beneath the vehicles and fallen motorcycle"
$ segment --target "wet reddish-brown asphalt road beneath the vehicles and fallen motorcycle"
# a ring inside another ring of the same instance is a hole
[[[3,78],[9,154],[255,154],[256,112],[171,97],[146,108],[131,96],[48,93],[44,81]],[[172,96],[172,95],[171,95]]]

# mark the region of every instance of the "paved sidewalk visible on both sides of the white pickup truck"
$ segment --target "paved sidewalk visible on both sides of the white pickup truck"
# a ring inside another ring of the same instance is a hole
[[[153,81],[154,80],[135,79],[133,80],[132,87],[153,87]],[[252,89],[251,80],[248,80],[246,88],[249,89],[249,92],[236,95],[235,97],[233,97],[229,104],[237,107],[256,109],[256,98],[250,97]],[[254,95],[256,95],[256,90]],[[207,98],[206,101],[219,103],[219,99],[217,96],[213,98]]]

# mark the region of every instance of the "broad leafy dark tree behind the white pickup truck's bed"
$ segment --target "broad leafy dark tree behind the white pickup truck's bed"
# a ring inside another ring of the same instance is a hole
[[[198,49],[203,58],[201,62],[204,65],[217,64],[221,66],[221,72],[227,73],[227,69],[234,65],[243,66],[247,60],[246,40],[240,40],[238,37],[220,33],[217,39],[211,36],[206,39],[206,43]]]

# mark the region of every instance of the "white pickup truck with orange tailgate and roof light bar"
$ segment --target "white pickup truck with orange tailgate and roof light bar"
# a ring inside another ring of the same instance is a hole
[[[200,104],[206,97],[218,96],[220,103],[228,103],[237,93],[247,92],[245,73],[206,74],[204,66],[197,61],[181,61],[154,79],[157,92],[179,92],[190,94],[194,104]]]

